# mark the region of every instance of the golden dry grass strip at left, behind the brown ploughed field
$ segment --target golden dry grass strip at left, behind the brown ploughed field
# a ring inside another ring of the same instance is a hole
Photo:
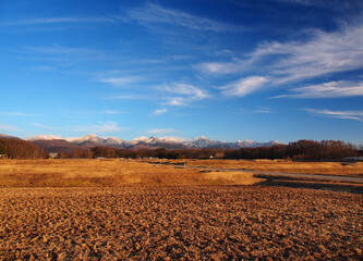
[[[119,160],[1,160],[0,187],[106,187],[122,185],[253,185],[250,173],[199,172]]]

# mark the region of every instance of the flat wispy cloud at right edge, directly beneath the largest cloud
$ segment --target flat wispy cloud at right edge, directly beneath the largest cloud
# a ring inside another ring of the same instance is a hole
[[[294,88],[291,89],[291,92],[273,98],[340,98],[363,96],[363,83],[348,80],[329,82],[320,85]]]

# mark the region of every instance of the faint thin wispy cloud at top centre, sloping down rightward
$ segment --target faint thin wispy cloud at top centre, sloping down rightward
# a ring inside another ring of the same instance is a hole
[[[241,26],[192,15],[180,10],[167,9],[150,2],[143,8],[126,11],[126,14],[129,20],[136,20],[145,26],[167,24],[187,29],[211,32],[238,32],[242,29]]]

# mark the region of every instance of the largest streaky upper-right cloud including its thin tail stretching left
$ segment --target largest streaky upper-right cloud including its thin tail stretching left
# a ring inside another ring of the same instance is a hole
[[[265,42],[245,59],[205,62],[196,69],[214,76],[258,73],[269,79],[270,86],[281,86],[362,69],[362,23],[346,25],[332,33],[311,30],[303,41]]]

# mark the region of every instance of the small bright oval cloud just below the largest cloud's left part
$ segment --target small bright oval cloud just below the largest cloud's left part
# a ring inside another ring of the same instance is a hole
[[[259,90],[266,82],[267,78],[262,76],[241,78],[222,87],[222,95],[227,97],[243,97]]]

